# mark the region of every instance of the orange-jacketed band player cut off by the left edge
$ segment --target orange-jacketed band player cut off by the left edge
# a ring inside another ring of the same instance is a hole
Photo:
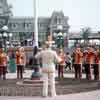
[[[3,75],[3,79],[6,79],[7,72],[7,55],[3,52],[3,49],[0,48],[0,77]]]

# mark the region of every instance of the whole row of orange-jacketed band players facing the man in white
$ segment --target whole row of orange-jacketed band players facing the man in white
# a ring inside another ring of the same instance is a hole
[[[43,50],[46,47],[43,44]],[[87,47],[82,50],[80,47],[76,47],[73,52],[63,52],[63,49],[59,49],[57,52],[59,58],[62,59],[60,63],[56,64],[58,70],[58,77],[64,77],[64,71],[74,71],[75,79],[82,79],[82,73],[85,72],[86,79],[91,80],[92,73],[94,79],[100,78],[100,48]],[[0,48],[0,77],[6,79],[7,72],[7,54]],[[17,65],[17,78],[23,78],[23,71],[26,65],[26,55],[23,47],[17,49],[15,53],[16,65]]]

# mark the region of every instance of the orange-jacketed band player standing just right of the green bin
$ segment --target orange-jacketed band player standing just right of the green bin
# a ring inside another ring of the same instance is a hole
[[[23,78],[23,69],[26,64],[26,56],[24,48],[20,47],[16,52],[16,64],[17,64],[17,78]]]

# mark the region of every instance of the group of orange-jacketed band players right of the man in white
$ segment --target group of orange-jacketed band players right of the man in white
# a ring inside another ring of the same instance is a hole
[[[64,77],[64,69],[69,68],[74,71],[75,79],[82,79],[82,73],[85,72],[86,79],[91,80],[92,74],[95,80],[100,79],[100,48],[99,46],[87,47],[82,50],[76,47],[71,53],[64,54],[59,50],[58,55],[62,58],[62,62],[58,64],[58,76]]]

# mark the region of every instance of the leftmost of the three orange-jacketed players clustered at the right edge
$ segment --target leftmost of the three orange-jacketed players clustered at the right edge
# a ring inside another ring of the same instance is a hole
[[[74,69],[75,69],[75,78],[81,79],[82,78],[82,57],[83,53],[81,52],[80,48],[76,48],[75,52],[73,53],[74,57]]]

